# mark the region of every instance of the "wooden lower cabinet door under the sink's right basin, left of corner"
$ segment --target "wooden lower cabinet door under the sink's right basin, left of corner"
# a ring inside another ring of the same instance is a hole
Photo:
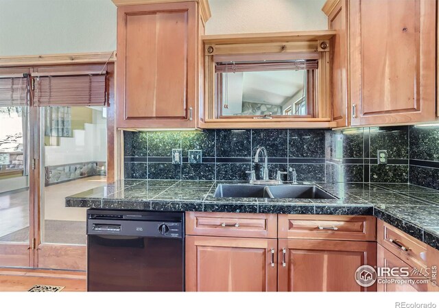
[[[375,291],[358,285],[355,271],[376,261],[377,244],[368,241],[279,239],[278,291]]]

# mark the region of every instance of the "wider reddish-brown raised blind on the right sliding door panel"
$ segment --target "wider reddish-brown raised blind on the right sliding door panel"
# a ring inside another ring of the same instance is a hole
[[[32,73],[35,106],[105,106],[106,73]]]

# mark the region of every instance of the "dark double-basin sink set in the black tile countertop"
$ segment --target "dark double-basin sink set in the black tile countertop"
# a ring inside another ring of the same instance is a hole
[[[228,185],[217,186],[215,198],[303,198],[337,199],[314,185]]]

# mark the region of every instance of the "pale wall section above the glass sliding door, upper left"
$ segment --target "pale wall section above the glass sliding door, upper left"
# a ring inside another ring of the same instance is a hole
[[[0,56],[115,49],[111,0],[0,0]]]

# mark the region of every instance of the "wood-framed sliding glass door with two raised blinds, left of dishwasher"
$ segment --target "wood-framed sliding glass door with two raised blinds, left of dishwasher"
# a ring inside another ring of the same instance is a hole
[[[85,270],[86,209],[65,198],[106,183],[112,69],[0,69],[0,267]]]

